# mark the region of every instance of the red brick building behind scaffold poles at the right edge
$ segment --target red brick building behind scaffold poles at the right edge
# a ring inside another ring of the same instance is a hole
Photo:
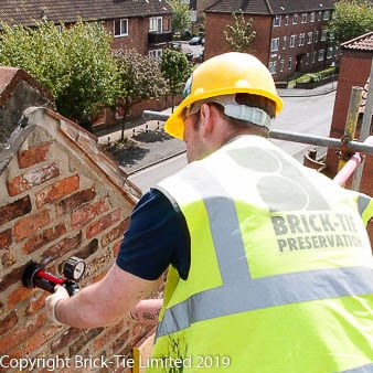
[[[351,88],[353,86],[366,87],[373,58],[373,32],[341,44],[340,73],[338,89],[330,129],[330,137],[342,138],[348,117]],[[372,78],[371,78],[372,79]],[[373,118],[372,118],[373,119]],[[373,135],[373,120],[370,136]],[[359,126],[356,138],[359,138]],[[338,170],[339,158],[335,151],[330,150],[327,157],[327,167],[331,174]],[[373,156],[366,154],[361,191],[372,195],[373,191]],[[373,222],[370,224],[370,236],[373,242]]]

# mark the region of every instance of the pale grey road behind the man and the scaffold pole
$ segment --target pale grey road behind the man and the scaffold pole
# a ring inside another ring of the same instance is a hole
[[[313,97],[283,97],[284,109],[273,121],[273,128],[307,135],[329,136],[335,92]],[[273,140],[299,161],[308,148],[305,143]],[[143,192],[163,178],[173,174],[186,164],[185,154],[134,173],[129,179]]]

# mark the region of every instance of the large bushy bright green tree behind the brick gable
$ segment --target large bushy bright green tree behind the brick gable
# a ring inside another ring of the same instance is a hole
[[[34,28],[1,24],[0,64],[23,68],[47,88],[62,115],[87,121],[114,103],[116,64],[110,36],[81,20],[65,28],[47,21]]]

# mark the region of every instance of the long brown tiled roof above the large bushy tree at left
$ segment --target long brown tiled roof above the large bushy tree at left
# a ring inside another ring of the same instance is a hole
[[[2,0],[0,21],[8,24],[33,24],[46,18],[60,23],[107,20],[122,17],[171,14],[166,0]]]

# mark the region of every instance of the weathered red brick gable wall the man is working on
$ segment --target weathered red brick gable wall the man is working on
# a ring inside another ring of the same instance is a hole
[[[56,371],[113,372],[114,365],[105,369],[100,361],[130,356],[149,327],[127,319],[93,330],[52,327],[44,315],[47,294],[23,287],[21,276],[30,259],[61,274],[63,262],[76,255],[87,263],[82,286],[102,278],[135,200],[119,184],[122,175],[115,163],[95,148],[94,136],[49,110],[28,118],[26,135],[18,135],[24,137],[22,145],[0,174],[0,370],[18,372],[17,363],[26,356],[40,364],[84,356],[97,366]],[[4,367],[8,363],[14,369]]]

